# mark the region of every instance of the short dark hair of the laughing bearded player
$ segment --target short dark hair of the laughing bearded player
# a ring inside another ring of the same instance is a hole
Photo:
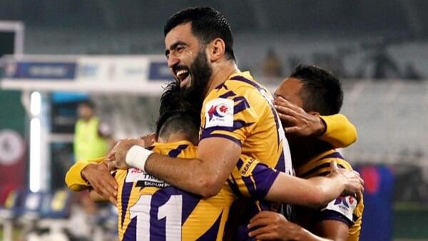
[[[170,16],[165,26],[163,34],[166,36],[171,29],[180,24],[192,24],[192,32],[195,36],[207,44],[214,39],[220,38],[225,41],[225,53],[229,59],[235,60],[233,53],[233,36],[228,20],[225,16],[210,7],[191,7],[183,9]]]

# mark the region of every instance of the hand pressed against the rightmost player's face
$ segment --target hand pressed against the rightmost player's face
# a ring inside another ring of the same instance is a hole
[[[281,96],[275,98],[273,104],[280,116],[285,133],[300,136],[319,136],[325,133],[325,123],[319,116],[306,113],[305,110]]]

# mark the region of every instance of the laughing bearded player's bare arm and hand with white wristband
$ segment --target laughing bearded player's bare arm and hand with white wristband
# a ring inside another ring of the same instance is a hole
[[[241,148],[226,138],[205,138],[198,145],[195,159],[170,158],[149,153],[146,162],[142,155],[133,155],[128,150],[136,144],[133,140],[122,140],[116,145],[116,160],[111,168],[128,168],[127,163],[146,170],[165,182],[190,193],[210,197],[220,192],[233,167],[238,162]],[[144,150],[143,150],[144,152]],[[132,160],[131,160],[132,159]],[[179,163],[179,164],[178,164]]]

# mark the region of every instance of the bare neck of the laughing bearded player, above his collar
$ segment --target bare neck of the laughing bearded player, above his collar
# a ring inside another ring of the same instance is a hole
[[[228,80],[228,77],[238,72],[238,66],[235,61],[223,61],[222,63],[213,63],[213,74],[211,75],[210,82],[208,84],[207,94],[210,93],[215,87],[224,83]]]

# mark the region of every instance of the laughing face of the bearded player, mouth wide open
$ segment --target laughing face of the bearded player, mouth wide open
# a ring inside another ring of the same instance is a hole
[[[173,76],[180,83],[180,88],[190,88],[198,77],[206,78],[209,63],[205,47],[192,32],[191,23],[180,24],[165,36],[165,56]],[[208,68],[210,69],[210,68]],[[203,75],[203,76],[199,76]]]

